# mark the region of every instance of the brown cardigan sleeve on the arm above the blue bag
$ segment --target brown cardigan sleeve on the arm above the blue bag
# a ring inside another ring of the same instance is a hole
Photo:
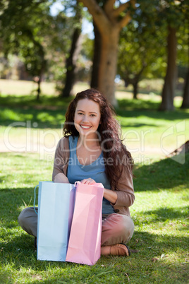
[[[56,146],[56,151],[54,155],[54,167],[52,172],[52,181],[54,182],[54,177],[56,174],[63,173],[66,174],[69,159],[69,143],[68,138],[63,137]]]

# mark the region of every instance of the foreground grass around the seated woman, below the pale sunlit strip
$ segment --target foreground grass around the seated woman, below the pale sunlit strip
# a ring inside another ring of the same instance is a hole
[[[135,167],[131,256],[103,256],[91,267],[37,261],[33,238],[18,225],[20,211],[32,206],[35,185],[51,180],[52,161],[1,153],[1,162],[1,283],[188,282],[188,155],[184,165],[166,159]]]

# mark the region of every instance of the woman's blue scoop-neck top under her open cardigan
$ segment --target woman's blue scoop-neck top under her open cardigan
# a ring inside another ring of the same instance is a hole
[[[78,136],[69,136],[70,158],[68,161],[67,172],[69,182],[74,184],[77,181],[91,177],[95,180],[95,182],[102,183],[105,189],[110,189],[109,180],[106,178],[106,174],[104,172],[105,167],[103,153],[101,153],[99,158],[90,165],[81,165],[76,154],[77,143]],[[103,198],[102,214],[111,213],[115,213],[114,207],[111,206],[109,201]]]

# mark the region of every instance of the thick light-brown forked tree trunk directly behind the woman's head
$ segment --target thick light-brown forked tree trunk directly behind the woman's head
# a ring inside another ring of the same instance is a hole
[[[98,89],[112,105],[116,105],[114,79],[116,76],[119,33],[130,21],[129,7],[135,1],[114,6],[116,0],[102,1],[102,6],[94,0],[78,0],[87,7],[101,35],[101,50],[98,72]]]

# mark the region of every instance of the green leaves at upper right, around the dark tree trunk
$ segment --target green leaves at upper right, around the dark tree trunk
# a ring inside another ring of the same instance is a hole
[[[132,20],[121,31],[118,46],[118,75],[126,84],[135,86],[142,78],[164,77],[168,26],[177,29],[177,63],[186,66],[188,12],[185,1],[138,1]]]

